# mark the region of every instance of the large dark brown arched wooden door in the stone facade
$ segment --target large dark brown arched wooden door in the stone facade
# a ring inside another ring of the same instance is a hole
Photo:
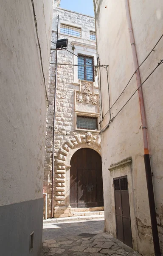
[[[70,166],[70,206],[104,206],[101,156],[91,148],[81,148],[73,154]]]

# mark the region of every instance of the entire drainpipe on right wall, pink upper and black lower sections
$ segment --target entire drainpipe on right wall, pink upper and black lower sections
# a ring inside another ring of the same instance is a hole
[[[125,7],[126,7],[126,16],[127,16],[127,23],[128,23],[128,29],[129,29],[129,37],[130,37],[131,48],[132,48],[132,56],[134,61],[134,68],[135,70],[137,70],[138,58],[136,54],[135,40],[134,40],[134,35],[132,30],[131,16],[129,12],[129,0],[125,0]],[[139,69],[136,71],[135,74],[136,74],[137,86],[140,87],[141,77],[140,77]],[[147,130],[146,130],[147,129],[146,114],[145,114],[145,108],[144,108],[144,102],[143,102],[143,92],[141,87],[138,90],[138,96],[139,96],[139,105],[140,105],[140,111],[141,111],[141,123],[142,123],[142,129],[143,129],[144,164],[145,164],[145,170],[146,170],[146,183],[147,183],[148,198],[149,198],[149,209],[150,209],[150,216],[151,216],[153,244],[154,244],[155,256],[161,256],[158,229],[157,229],[155,198],[154,198],[153,183],[152,183],[151,163],[149,158],[149,147],[148,147]]]

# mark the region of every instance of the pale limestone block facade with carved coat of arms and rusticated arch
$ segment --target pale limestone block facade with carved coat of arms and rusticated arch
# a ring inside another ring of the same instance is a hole
[[[58,51],[58,69],[56,84],[56,118],[55,118],[55,136],[54,136],[54,160],[55,160],[55,178],[54,178],[54,206],[67,206],[66,198],[66,157],[70,154],[73,147],[86,146],[94,147],[97,145],[97,151],[100,151],[100,137],[98,131],[91,132],[91,145],[87,145],[87,130],[76,129],[76,114],[99,116],[98,105],[98,85],[97,78],[95,82],[90,82],[87,86],[90,88],[88,102],[84,96],[84,81],[78,80],[78,69],[74,66],[59,64],[77,64],[78,53],[93,56],[96,64],[96,41],[90,39],[90,30],[95,31],[95,20],[93,17],[82,15],[76,12],[70,12],[54,5],[52,40],[56,42],[57,21],[59,15],[59,39],[68,38],[68,50]],[[71,36],[60,32],[60,23],[71,26],[81,27],[82,37]],[[88,44],[89,42],[89,44]],[[55,44],[52,44],[53,48]],[[72,53],[71,53],[72,52]],[[50,73],[49,73],[49,108],[47,112],[47,129],[45,145],[45,177],[44,191],[48,193],[48,217],[51,216],[51,174],[52,174],[52,144],[53,144],[53,109],[54,109],[54,91],[55,91],[55,70],[56,70],[56,52],[51,53]],[[86,91],[85,91],[86,92]],[[79,94],[82,95],[80,102]],[[69,212],[69,211],[68,211]],[[58,217],[58,216],[57,216]]]

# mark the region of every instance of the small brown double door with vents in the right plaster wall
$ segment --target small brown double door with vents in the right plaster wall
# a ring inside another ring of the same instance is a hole
[[[127,176],[114,179],[114,195],[117,239],[132,247]]]

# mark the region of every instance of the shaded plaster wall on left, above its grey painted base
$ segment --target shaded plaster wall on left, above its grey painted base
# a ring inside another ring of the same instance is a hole
[[[52,0],[38,2],[48,86]],[[46,97],[31,1],[1,1],[0,41],[0,205],[6,205],[42,197]]]

